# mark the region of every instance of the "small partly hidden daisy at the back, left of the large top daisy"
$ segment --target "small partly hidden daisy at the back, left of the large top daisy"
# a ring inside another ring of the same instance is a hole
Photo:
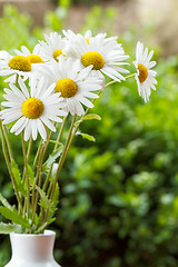
[[[55,59],[58,61],[58,57],[62,53],[62,49],[66,46],[66,41],[57,32],[51,32],[50,36],[44,34],[46,42],[39,41],[41,47],[41,55],[44,61]],[[65,55],[63,55],[65,56]]]

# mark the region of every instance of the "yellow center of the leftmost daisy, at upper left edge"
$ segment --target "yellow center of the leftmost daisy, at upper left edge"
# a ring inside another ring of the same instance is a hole
[[[20,70],[20,71],[30,71],[31,63],[27,57],[23,56],[14,56],[12,59],[9,60],[9,67],[11,69]]]

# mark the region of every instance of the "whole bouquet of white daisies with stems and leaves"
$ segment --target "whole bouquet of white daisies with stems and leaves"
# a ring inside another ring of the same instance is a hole
[[[141,42],[136,48],[136,72],[128,75],[125,67],[129,56],[125,55],[117,37],[92,36],[91,31],[85,36],[70,30],[62,33],[44,36],[46,41],[39,41],[32,53],[27,47],[14,50],[13,56],[0,51],[0,76],[8,76],[6,82],[9,83],[3,89],[0,131],[17,198],[17,205],[12,206],[0,194],[0,214],[9,220],[0,222],[1,234],[43,233],[55,220],[58,178],[70,145],[76,135],[93,139],[80,132],[79,127],[83,120],[101,119],[88,111],[108,86],[135,77],[139,96],[145,101],[149,100],[151,89],[156,89],[156,71],[151,69],[156,62],[150,61],[154,51],[148,53]],[[107,85],[106,77],[111,79]],[[9,130],[21,135],[21,171],[13,156]],[[36,140],[37,151],[31,157]],[[50,155],[49,144],[53,146]]]

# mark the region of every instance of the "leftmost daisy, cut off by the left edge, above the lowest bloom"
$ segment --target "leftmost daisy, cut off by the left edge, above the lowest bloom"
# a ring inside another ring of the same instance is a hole
[[[14,75],[19,75],[26,80],[33,72],[32,63],[28,57],[11,56],[7,51],[0,51],[0,76],[14,77]]]

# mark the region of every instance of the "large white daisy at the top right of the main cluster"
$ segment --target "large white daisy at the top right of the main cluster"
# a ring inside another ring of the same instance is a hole
[[[110,77],[116,81],[125,80],[121,73],[129,71],[121,68],[129,57],[125,55],[121,44],[116,38],[105,38],[105,34],[98,34],[86,40],[81,34],[72,38],[72,41],[63,49],[63,53],[68,57],[79,59],[82,68],[92,65],[92,72],[96,76],[100,73]]]

